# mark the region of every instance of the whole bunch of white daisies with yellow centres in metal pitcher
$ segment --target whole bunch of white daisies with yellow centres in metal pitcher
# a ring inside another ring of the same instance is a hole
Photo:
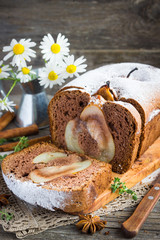
[[[28,65],[36,57],[36,51],[32,49],[35,46],[36,43],[31,39],[12,39],[9,46],[3,47],[3,52],[7,55],[0,61],[0,80],[10,80],[12,85],[6,96],[0,98],[0,111],[13,111],[15,104],[8,100],[8,96],[17,82],[26,83],[38,78],[41,86],[52,88],[56,84],[62,85],[67,78],[78,77],[86,71],[86,59],[83,56],[75,59],[74,55],[69,55],[70,43],[64,35],[59,33],[55,41],[51,34],[47,34],[39,46],[45,66],[37,76],[32,66]],[[6,65],[8,59],[11,62]]]

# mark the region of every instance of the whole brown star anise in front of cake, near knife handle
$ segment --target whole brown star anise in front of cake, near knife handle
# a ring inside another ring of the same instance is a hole
[[[83,233],[94,234],[96,231],[103,229],[106,223],[107,221],[101,220],[98,216],[79,215],[79,222],[76,224],[76,227],[81,229]]]

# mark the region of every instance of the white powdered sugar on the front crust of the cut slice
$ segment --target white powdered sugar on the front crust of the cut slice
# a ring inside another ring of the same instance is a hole
[[[71,199],[71,192],[47,190],[32,181],[20,181],[13,174],[5,175],[3,178],[8,188],[20,199],[32,204],[39,205],[49,210],[54,208],[64,209],[66,207],[66,199]]]

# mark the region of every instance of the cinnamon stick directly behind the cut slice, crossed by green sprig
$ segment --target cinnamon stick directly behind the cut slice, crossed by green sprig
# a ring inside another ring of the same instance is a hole
[[[51,141],[51,137],[48,135],[48,136],[30,139],[30,140],[28,140],[28,145],[31,146],[35,143],[39,143],[39,142],[43,142],[43,141],[49,142],[49,141]],[[3,144],[0,146],[0,152],[12,151],[17,144],[18,144],[18,142]]]

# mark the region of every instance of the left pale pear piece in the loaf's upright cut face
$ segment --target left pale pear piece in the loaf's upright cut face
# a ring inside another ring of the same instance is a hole
[[[76,128],[76,120],[70,120],[67,123],[65,129],[65,142],[68,150],[84,154],[84,151],[78,144],[78,129]]]

